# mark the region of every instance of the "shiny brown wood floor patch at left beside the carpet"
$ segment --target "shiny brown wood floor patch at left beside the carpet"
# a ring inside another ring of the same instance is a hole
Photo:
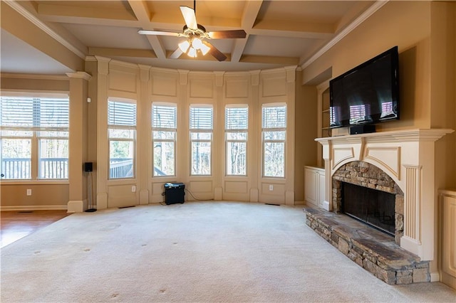
[[[3,248],[70,214],[66,211],[0,211],[0,247]]]

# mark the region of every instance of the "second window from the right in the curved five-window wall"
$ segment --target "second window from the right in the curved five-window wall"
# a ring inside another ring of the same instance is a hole
[[[227,105],[225,107],[225,148],[227,176],[247,175],[247,129],[249,107]]]

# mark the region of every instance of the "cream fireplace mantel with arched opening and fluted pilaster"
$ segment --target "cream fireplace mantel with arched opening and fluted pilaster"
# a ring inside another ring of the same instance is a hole
[[[325,201],[332,211],[334,172],[351,161],[366,161],[385,171],[404,193],[404,235],[400,246],[421,260],[434,260],[435,142],[452,129],[407,129],[392,132],[317,138],[325,161]]]

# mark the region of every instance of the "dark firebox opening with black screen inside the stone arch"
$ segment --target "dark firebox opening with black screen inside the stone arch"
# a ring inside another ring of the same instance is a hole
[[[395,235],[395,195],[341,182],[341,211],[373,228]]]

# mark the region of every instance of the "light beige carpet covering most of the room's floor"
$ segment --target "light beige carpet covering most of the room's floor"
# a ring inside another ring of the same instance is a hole
[[[75,213],[1,250],[1,302],[456,302],[391,286],[300,207],[199,202]]]

